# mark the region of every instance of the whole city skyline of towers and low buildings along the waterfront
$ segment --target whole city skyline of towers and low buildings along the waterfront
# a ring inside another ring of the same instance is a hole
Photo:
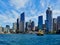
[[[57,18],[53,18],[52,15],[52,10],[50,9],[50,7],[48,7],[46,10],[45,24],[43,24],[43,16],[38,16],[38,25],[35,26],[34,21],[29,20],[29,22],[25,22],[25,12],[23,12],[20,14],[20,17],[17,18],[16,22],[12,24],[12,29],[10,29],[9,25],[6,25],[6,27],[0,26],[0,34],[35,34],[39,30],[43,31],[44,34],[60,34],[60,16],[58,16]]]

